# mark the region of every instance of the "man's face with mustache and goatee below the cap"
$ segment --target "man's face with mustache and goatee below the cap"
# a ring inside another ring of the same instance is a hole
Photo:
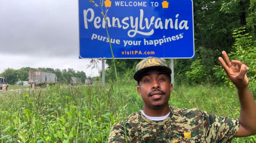
[[[137,91],[144,101],[144,108],[159,109],[169,106],[172,84],[165,72],[151,70],[142,75]]]

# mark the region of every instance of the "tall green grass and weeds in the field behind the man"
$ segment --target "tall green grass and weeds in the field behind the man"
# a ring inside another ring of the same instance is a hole
[[[107,142],[110,128],[132,112],[143,109],[137,83],[120,80],[94,85],[55,85],[35,90],[0,93],[0,143],[3,142]],[[121,105],[125,103],[125,108]],[[169,100],[179,108],[199,108],[237,118],[240,103],[236,89],[210,85],[180,85]],[[232,142],[256,142],[256,136]]]

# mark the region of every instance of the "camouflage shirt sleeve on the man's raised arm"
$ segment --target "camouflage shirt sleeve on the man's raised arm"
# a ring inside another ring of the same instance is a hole
[[[231,142],[238,132],[238,119],[216,116],[202,111],[205,138],[210,142]]]

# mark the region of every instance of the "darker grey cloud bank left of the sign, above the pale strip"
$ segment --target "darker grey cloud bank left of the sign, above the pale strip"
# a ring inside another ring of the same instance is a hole
[[[78,57],[78,5],[71,0],[1,0],[4,53]]]

